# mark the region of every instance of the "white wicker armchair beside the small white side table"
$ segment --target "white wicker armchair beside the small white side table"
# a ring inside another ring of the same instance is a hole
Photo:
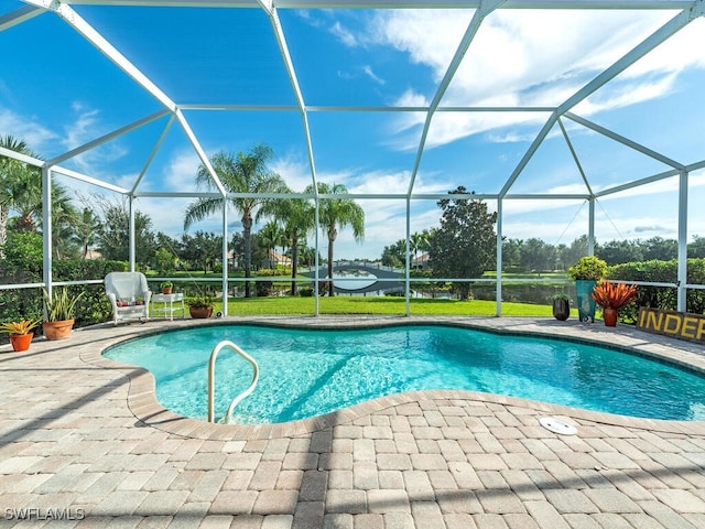
[[[152,292],[141,272],[110,272],[105,279],[106,294],[112,305],[112,321],[150,319]]]

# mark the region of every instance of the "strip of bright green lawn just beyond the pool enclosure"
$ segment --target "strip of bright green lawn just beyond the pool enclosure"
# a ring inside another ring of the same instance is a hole
[[[318,300],[321,314],[405,314],[403,298],[391,296],[335,296]],[[216,311],[223,305],[216,304]],[[412,300],[412,315],[465,315],[494,316],[494,301],[457,301],[457,300]],[[273,314],[313,314],[313,298],[251,298],[228,302],[228,315],[273,315]],[[571,311],[577,315],[577,311]],[[552,316],[551,305],[533,305],[528,303],[502,303],[505,316]]]

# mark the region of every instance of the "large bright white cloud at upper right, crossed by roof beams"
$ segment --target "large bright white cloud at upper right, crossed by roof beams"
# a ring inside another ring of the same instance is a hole
[[[427,66],[438,83],[464,34],[471,12],[457,10],[379,11],[359,42],[392,46],[412,64]],[[556,106],[614,64],[673,15],[664,11],[498,10],[482,23],[442,105]],[[697,20],[579,107],[583,115],[648,101],[673,90],[675,75],[705,67],[703,22]],[[699,30],[699,31],[698,31]],[[644,76],[649,77],[644,79]],[[397,105],[425,104],[433,94],[408,88]],[[400,149],[417,145],[424,116],[400,116]],[[509,126],[538,125],[543,115],[481,116],[436,114],[427,145]],[[511,141],[524,132],[498,132],[492,139]]]

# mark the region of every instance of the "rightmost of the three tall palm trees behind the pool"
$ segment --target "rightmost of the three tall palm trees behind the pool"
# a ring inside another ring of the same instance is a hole
[[[306,187],[306,193],[313,193],[313,186]],[[328,295],[334,295],[333,289],[333,245],[338,236],[338,228],[352,228],[355,240],[360,242],[365,238],[365,210],[352,198],[344,198],[348,190],[343,184],[318,182],[318,194],[340,195],[340,198],[322,198],[318,206],[318,222],[328,237]]]

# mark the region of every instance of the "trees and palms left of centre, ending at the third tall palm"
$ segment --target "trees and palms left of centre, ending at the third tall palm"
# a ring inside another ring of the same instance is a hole
[[[11,136],[0,138],[0,147],[41,159],[24,141]],[[291,256],[292,294],[296,293],[297,266],[304,261],[313,262],[312,250],[306,246],[306,236],[321,228],[328,239],[328,262],[334,259],[334,245],[339,230],[352,229],[356,240],[365,236],[365,212],[347,197],[347,188],[341,184],[318,182],[317,186],[307,186],[303,192],[327,195],[319,202],[318,222],[315,226],[314,205],[310,199],[268,198],[272,194],[291,194],[284,180],[269,169],[268,162],[273,152],[269,145],[261,143],[248,153],[237,154],[220,151],[209,161],[225,191],[231,194],[250,194],[263,196],[229,197],[228,204],[241,215],[242,233],[236,234],[229,242],[245,277],[250,278],[256,257],[261,250],[267,251],[281,245]],[[149,215],[135,212],[135,261],[142,269],[149,267],[160,271],[182,269],[212,270],[223,257],[223,236],[213,233],[196,231],[188,235],[188,228],[196,222],[224,207],[224,198],[219,187],[212,177],[209,169],[202,163],[195,174],[199,188],[215,192],[213,196],[195,198],[184,215],[184,234],[177,240],[161,231],[154,231]],[[52,182],[53,212],[53,252],[57,259],[86,259],[95,249],[99,256],[108,260],[126,260],[129,255],[129,210],[127,199],[109,201],[95,196],[84,201],[87,205],[77,208],[69,198],[67,190],[58,182]],[[8,237],[13,234],[30,235],[23,238],[24,244],[41,249],[42,218],[42,179],[39,168],[22,161],[0,156],[0,258],[4,252],[20,245],[21,237]],[[254,222],[269,218],[270,222],[260,234],[252,234]],[[31,235],[37,237],[32,238]],[[315,255],[313,256],[315,257]],[[265,259],[260,259],[262,262]],[[220,263],[221,266],[223,263]],[[328,271],[329,278],[333,270]],[[329,287],[333,295],[333,284]],[[250,283],[245,283],[245,295],[250,296]]]

